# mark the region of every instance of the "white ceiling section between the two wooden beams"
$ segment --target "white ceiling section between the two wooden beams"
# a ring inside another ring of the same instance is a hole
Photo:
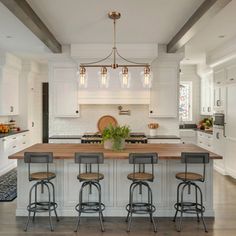
[[[121,13],[118,43],[168,43],[203,0],[27,0],[61,44],[110,43]]]

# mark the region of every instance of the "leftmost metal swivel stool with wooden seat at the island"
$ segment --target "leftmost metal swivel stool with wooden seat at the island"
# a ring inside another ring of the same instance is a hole
[[[49,224],[51,231],[53,231],[51,212],[54,211],[57,221],[59,218],[57,216],[56,208],[57,203],[55,202],[55,188],[52,179],[56,178],[56,174],[49,172],[49,163],[53,162],[53,154],[50,152],[25,152],[24,161],[28,163],[28,176],[29,181],[35,181],[36,183],[30,188],[29,192],[29,205],[28,210],[28,220],[25,225],[25,231],[28,229],[31,213],[33,213],[33,219],[35,220],[36,213],[48,212],[49,214]],[[31,173],[31,164],[41,164],[45,165],[45,172],[35,172]],[[38,187],[41,187],[41,194],[44,193],[44,188],[47,189],[48,199],[47,201],[38,200]],[[34,200],[32,201],[32,193],[34,192]]]

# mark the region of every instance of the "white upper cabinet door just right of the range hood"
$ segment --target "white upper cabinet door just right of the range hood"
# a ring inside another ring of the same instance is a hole
[[[153,70],[150,91],[150,117],[177,116],[177,70],[175,67],[158,67]]]

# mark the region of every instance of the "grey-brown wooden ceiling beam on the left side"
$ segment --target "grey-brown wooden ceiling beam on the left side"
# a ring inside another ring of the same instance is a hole
[[[52,52],[61,53],[61,44],[42,22],[26,0],[0,0]]]

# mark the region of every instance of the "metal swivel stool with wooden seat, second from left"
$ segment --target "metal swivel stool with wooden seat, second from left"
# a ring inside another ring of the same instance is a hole
[[[104,231],[103,226],[103,211],[105,205],[101,202],[101,185],[100,180],[104,179],[104,175],[99,172],[99,165],[104,162],[103,153],[75,153],[75,163],[79,164],[79,174],[77,179],[82,182],[79,192],[79,203],[76,205],[75,210],[78,212],[78,220],[75,228],[75,232],[78,231],[81,213],[96,213],[99,214],[99,220],[101,225],[101,231]],[[81,164],[85,167],[85,171],[81,173]],[[96,165],[96,172],[92,171],[92,166]],[[83,190],[85,187],[89,188],[89,194],[92,194],[92,186],[98,191],[97,202],[85,202],[83,201]]]

